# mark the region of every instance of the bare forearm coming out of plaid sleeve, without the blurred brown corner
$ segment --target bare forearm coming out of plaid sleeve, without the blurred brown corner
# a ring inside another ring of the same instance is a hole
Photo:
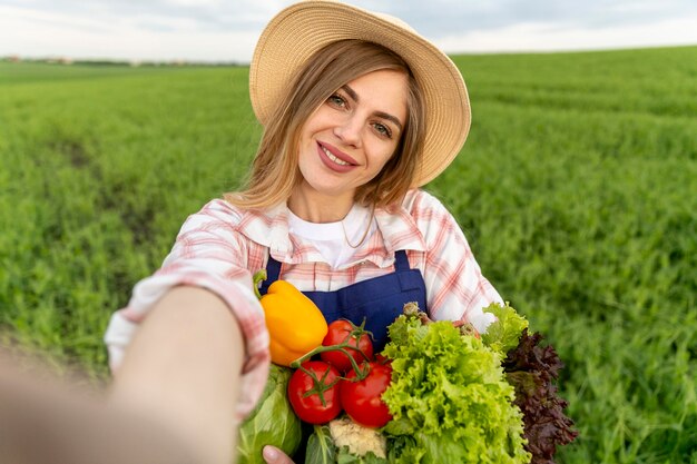
[[[244,355],[237,320],[220,298],[175,287],[143,322],[110,401],[161,421],[203,462],[229,464]]]

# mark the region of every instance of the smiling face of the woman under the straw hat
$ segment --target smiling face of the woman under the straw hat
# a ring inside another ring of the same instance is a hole
[[[305,122],[300,195],[353,203],[394,154],[406,124],[408,77],[380,70],[336,90]]]

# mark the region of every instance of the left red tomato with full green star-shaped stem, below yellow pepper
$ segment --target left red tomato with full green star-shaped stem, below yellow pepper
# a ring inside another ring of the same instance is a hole
[[[302,368],[312,373],[317,382]],[[322,361],[307,361],[302,364],[302,368],[296,369],[288,381],[291,406],[302,421],[325,424],[342,411],[338,398],[341,374],[334,366]]]

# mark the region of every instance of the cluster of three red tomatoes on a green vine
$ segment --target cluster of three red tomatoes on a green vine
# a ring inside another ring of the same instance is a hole
[[[390,385],[392,367],[377,355],[363,327],[338,319],[317,348],[322,361],[305,361],[288,383],[295,414],[311,424],[325,424],[342,411],[355,423],[382,427],[392,416],[381,396]]]

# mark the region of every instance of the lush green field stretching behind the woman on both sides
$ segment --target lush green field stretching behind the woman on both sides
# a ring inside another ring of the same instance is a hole
[[[460,56],[468,142],[428,186],[553,344],[559,463],[697,463],[697,47]],[[0,327],[108,378],[101,336],[261,129],[247,68],[0,63]]]

